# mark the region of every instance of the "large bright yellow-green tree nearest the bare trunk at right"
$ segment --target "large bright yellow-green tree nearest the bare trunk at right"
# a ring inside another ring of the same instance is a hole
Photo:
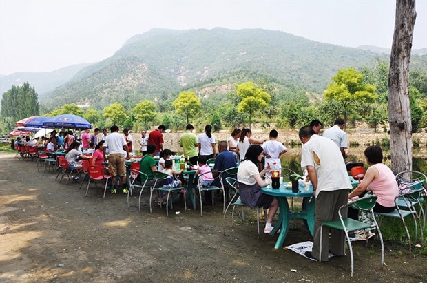
[[[344,120],[353,111],[357,103],[372,102],[378,97],[375,87],[364,82],[364,77],[354,67],[338,70],[332,83],[324,91],[326,101],[339,101],[344,110]]]

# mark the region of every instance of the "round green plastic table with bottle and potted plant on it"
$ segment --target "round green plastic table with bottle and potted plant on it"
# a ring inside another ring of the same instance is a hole
[[[272,189],[271,186],[261,188],[262,193],[275,196],[279,202],[280,213],[278,223],[275,224],[273,231],[270,233],[270,235],[273,235],[278,231],[278,229],[280,229],[279,238],[275,242],[275,249],[282,248],[284,238],[286,238],[289,230],[289,221],[291,219],[303,219],[311,235],[314,233],[315,198],[313,195],[313,186],[310,186],[309,191],[304,191],[304,186],[300,185],[298,187],[300,192],[293,193],[292,189],[287,189],[285,185],[287,185],[286,182],[280,184],[279,189]],[[287,198],[303,198],[302,210],[298,212],[290,211]]]

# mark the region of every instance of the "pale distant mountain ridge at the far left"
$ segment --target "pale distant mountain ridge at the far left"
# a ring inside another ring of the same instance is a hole
[[[12,87],[12,85],[22,85],[26,81],[28,81],[28,83],[30,83],[30,85],[34,87],[37,94],[39,95],[44,94],[45,92],[51,92],[56,87],[63,85],[67,81],[70,81],[70,79],[75,74],[77,74],[80,70],[89,65],[90,64],[83,63],[63,67],[59,70],[54,70],[52,72],[19,72],[6,76],[1,76],[0,99],[1,96],[3,96],[3,93],[7,92],[10,87]]]

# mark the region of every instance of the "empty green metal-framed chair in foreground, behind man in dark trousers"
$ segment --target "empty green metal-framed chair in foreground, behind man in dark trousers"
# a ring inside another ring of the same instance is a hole
[[[332,229],[344,231],[344,233],[346,234],[348,249],[350,249],[351,277],[353,277],[353,273],[354,273],[353,248],[351,246],[351,240],[350,240],[350,237],[348,236],[348,232],[357,231],[357,230],[366,229],[366,228],[377,229],[379,240],[381,241],[381,265],[384,264],[384,242],[382,240],[381,231],[379,231],[379,225],[377,224],[377,221],[375,220],[375,216],[373,213],[373,207],[375,206],[376,201],[377,201],[377,196],[368,195],[368,196],[364,196],[363,198],[359,198],[358,200],[348,202],[346,205],[342,205],[340,207],[340,210],[338,211],[340,220],[323,222],[322,225],[320,226],[320,257],[322,257],[322,231],[324,226]],[[359,210],[370,211],[373,218],[373,224],[367,224],[351,218],[342,218],[341,211],[343,209],[347,209],[349,206]],[[320,258],[319,262],[321,261],[322,261],[322,258]]]

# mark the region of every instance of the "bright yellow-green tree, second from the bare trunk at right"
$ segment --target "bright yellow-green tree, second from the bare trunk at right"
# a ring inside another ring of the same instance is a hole
[[[271,96],[251,81],[237,86],[237,96],[241,99],[237,107],[238,112],[249,114],[250,128],[253,114],[258,110],[266,109],[271,102]]]

